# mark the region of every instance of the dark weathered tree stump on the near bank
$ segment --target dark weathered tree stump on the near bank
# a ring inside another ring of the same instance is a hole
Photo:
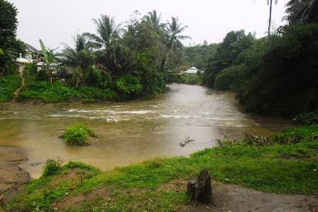
[[[211,203],[212,199],[212,186],[211,177],[207,169],[203,169],[199,178],[189,179],[187,182],[187,194],[192,196],[193,201],[201,203]]]

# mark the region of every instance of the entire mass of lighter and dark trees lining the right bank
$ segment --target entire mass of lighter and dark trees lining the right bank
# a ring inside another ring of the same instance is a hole
[[[289,1],[287,26],[268,38],[231,31],[209,58],[204,82],[236,91],[251,111],[295,116],[318,108],[318,1]]]

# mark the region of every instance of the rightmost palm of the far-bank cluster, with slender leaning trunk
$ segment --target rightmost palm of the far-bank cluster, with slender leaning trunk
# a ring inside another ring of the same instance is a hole
[[[171,17],[171,22],[168,21],[167,25],[165,26],[165,30],[166,30],[166,33],[168,36],[168,43],[166,45],[167,56],[165,57],[165,60],[163,62],[162,69],[165,69],[165,65],[167,64],[168,57],[170,55],[170,51],[171,50],[176,51],[176,50],[181,49],[183,47],[183,44],[181,43],[180,40],[190,38],[189,36],[179,35],[187,27],[188,26],[182,27],[182,23],[178,23],[177,17]]]

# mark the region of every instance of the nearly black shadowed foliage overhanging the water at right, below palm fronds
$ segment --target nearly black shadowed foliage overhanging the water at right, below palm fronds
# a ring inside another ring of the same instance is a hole
[[[239,89],[238,99],[265,114],[295,116],[316,111],[317,39],[318,24],[283,28],[281,35],[271,38],[272,45],[263,52],[247,86]]]

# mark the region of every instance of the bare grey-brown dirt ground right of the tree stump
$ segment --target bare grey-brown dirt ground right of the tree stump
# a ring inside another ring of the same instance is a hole
[[[212,182],[212,202],[213,204],[189,204],[183,206],[180,212],[318,212],[318,195],[270,194],[221,182]]]

